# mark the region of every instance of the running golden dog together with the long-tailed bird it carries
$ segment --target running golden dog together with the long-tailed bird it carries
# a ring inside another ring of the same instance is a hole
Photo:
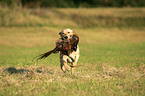
[[[52,53],[60,52],[60,67],[65,73],[67,70],[74,71],[79,59],[79,37],[71,29],[63,29],[59,32],[59,40],[56,41],[56,47],[44,54],[39,55],[39,59],[46,58]],[[69,66],[68,63],[71,63]]]

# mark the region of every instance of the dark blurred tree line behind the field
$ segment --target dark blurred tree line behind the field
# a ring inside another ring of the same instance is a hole
[[[56,7],[145,7],[145,0],[0,0],[1,6]]]

